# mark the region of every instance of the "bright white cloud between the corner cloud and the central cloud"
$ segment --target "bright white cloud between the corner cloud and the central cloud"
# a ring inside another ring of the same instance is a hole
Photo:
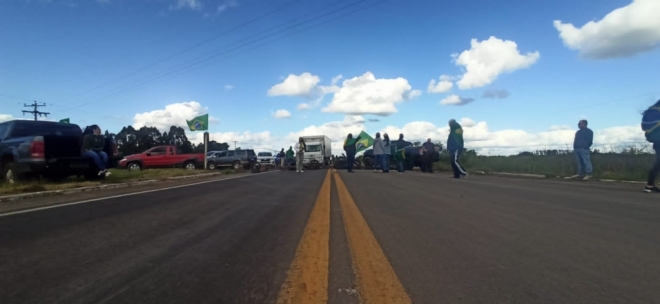
[[[471,48],[454,54],[456,65],[465,68],[465,74],[456,83],[462,90],[486,86],[502,73],[511,73],[534,64],[539,52],[521,54],[511,40],[491,36],[488,40],[472,39]]]

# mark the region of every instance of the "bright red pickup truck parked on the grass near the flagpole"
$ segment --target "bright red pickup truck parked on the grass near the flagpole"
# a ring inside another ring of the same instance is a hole
[[[185,168],[195,170],[204,165],[204,153],[183,154],[176,146],[157,146],[140,154],[124,157],[119,166],[131,171],[147,168]]]

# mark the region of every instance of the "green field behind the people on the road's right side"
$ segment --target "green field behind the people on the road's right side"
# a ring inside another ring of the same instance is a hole
[[[599,179],[644,181],[655,156],[652,154],[592,154],[594,177]],[[541,174],[564,177],[577,173],[573,154],[545,156],[461,156],[461,163],[472,171]],[[441,156],[436,170],[451,171],[449,157]]]

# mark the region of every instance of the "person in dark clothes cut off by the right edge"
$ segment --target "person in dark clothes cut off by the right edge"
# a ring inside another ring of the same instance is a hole
[[[644,187],[644,192],[660,192],[655,185],[655,178],[660,172],[660,100],[643,113],[642,130],[648,142],[653,143],[655,150],[655,163],[649,170],[649,177]]]

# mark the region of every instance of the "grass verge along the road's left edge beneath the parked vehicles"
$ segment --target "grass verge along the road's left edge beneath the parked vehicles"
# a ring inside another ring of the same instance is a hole
[[[168,177],[197,175],[197,174],[205,174],[205,173],[222,172],[223,174],[235,174],[243,171],[242,170],[188,171],[183,169],[148,169],[148,170],[134,172],[128,170],[111,169],[110,172],[112,174],[106,177],[105,180],[103,181],[86,181],[82,178],[69,177],[59,182],[52,182],[48,180],[29,180],[29,181],[19,181],[10,185],[3,183],[3,181],[0,180],[0,196],[39,192],[39,191],[49,191],[49,190],[67,190],[67,189],[75,189],[75,188],[83,188],[83,187],[93,187],[102,184],[116,184],[116,183],[136,182],[136,181],[144,181],[144,180],[166,180]]]

